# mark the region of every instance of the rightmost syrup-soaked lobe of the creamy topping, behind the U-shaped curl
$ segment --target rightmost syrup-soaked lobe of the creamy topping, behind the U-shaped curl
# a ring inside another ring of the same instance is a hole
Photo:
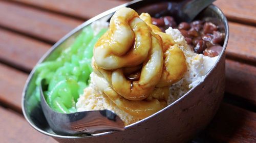
[[[187,71],[186,58],[183,51],[175,44],[170,35],[162,33],[160,28],[152,24],[151,16],[148,13],[142,13],[140,18],[150,26],[155,34],[162,38],[164,67],[157,87],[165,87],[179,81]]]

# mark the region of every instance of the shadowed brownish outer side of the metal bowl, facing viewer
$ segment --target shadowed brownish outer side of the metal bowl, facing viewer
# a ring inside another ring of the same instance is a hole
[[[205,79],[173,104],[126,127],[123,132],[76,138],[75,142],[186,142],[208,125],[216,114],[225,91],[224,52],[229,29],[227,19],[216,6],[209,6],[203,13],[201,16],[217,16],[226,34],[219,59]],[[71,138],[55,139],[59,142],[74,141]]]

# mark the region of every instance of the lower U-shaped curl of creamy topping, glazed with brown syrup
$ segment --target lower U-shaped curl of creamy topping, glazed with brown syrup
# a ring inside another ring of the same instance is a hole
[[[148,60],[143,64],[138,81],[129,81],[125,78],[122,69],[112,72],[112,86],[122,97],[129,100],[142,100],[154,90],[159,82],[163,67],[163,52],[160,42],[153,36],[152,48]],[[122,86],[120,86],[122,85]]]

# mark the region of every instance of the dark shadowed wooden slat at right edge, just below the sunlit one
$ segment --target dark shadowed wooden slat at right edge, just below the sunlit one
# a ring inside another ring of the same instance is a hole
[[[256,105],[256,67],[226,60],[226,92]]]

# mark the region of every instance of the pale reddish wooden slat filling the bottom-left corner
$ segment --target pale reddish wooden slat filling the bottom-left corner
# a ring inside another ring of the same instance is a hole
[[[37,132],[17,113],[0,107],[1,142],[57,142],[53,138]]]

